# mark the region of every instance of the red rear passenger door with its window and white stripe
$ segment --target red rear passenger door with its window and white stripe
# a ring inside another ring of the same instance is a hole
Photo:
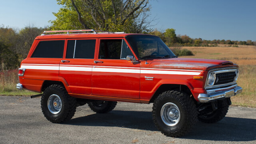
[[[67,40],[66,54],[60,62],[60,77],[68,82],[74,94],[92,94],[92,63],[96,41],[96,38]]]

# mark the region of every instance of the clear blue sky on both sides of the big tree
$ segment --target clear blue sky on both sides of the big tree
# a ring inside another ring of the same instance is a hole
[[[56,0],[0,0],[0,26],[50,26]],[[150,0],[151,28],[203,40],[256,41],[256,0]]]

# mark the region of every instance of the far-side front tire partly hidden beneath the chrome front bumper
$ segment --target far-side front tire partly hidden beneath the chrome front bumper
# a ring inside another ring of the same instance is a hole
[[[228,107],[218,108],[217,110],[204,115],[198,115],[198,120],[204,123],[216,123],[222,120],[228,113]]]

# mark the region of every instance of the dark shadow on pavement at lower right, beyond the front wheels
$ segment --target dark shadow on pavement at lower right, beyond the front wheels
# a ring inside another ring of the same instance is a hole
[[[256,140],[256,120],[225,117],[215,124],[198,122],[194,129],[182,138],[214,141]]]

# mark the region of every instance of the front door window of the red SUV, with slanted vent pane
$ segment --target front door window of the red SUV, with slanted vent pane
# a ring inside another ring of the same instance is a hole
[[[125,60],[128,55],[133,56],[130,48],[124,40],[100,40],[99,59]]]

